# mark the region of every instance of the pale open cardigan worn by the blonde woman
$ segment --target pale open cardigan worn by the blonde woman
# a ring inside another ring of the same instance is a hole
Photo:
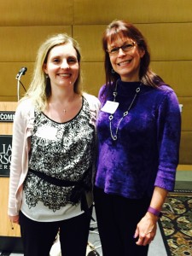
[[[100,102],[96,96],[84,93],[90,105],[90,124],[96,126]],[[34,106],[31,100],[20,102],[15,112],[12,139],[12,155],[9,177],[9,216],[19,214],[22,201],[23,182],[28,172],[28,153],[33,131]]]

